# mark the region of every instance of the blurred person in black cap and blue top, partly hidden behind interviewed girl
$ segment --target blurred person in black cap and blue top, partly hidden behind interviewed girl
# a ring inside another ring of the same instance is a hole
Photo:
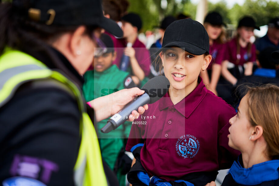
[[[160,39],[158,39],[155,43],[153,43],[149,49],[150,51],[150,57],[151,57],[151,65],[150,65],[150,75],[148,76],[150,79],[164,74],[164,69],[161,71],[159,70],[159,65],[155,65],[155,58],[156,58],[156,52],[162,48],[163,38],[166,31],[166,28],[172,23],[176,21],[176,19],[173,16],[167,16],[163,19],[160,28],[159,28],[159,34],[161,36]]]

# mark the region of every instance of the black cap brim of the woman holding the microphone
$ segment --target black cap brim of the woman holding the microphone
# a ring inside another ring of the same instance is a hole
[[[112,19],[103,17],[99,24],[98,24],[101,28],[104,28],[106,31],[108,31],[109,33],[115,35],[118,38],[122,38],[123,37],[123,31],[122,29],[119,27],[119,25],[113,21]]]

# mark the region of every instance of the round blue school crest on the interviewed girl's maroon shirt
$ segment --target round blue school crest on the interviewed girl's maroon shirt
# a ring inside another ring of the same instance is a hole
[[[175,144],[176,153],[184,158],[193,158],[200,149],[200,141],[193,135],[183,135]]]

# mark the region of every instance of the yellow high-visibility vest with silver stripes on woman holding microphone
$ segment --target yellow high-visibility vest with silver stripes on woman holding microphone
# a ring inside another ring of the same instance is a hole
[[[6,49],[0,56],[0,108],[8,104],[20,85],[43,79],[66,85],[79,105],[81,144],[74,168],[76,186],[107,186],[96,131],[86,112],[81,90],[72,81],[26,53]]]

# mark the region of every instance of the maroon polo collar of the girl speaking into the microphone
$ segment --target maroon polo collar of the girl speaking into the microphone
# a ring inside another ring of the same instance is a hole
[[[197,108],[197,106],[200,104],[207,93],[207,89],[203,84],[203,80],[200,76],[198,78],[198,81],[200,81],[199,85],[189,95],[187,95],[175,105],[173,105],[169,93],[164,95],[164,97],[159,100],[160,111],[173,106],[180,114],[182,114],[186,118],[189,118],[189,116]]]

